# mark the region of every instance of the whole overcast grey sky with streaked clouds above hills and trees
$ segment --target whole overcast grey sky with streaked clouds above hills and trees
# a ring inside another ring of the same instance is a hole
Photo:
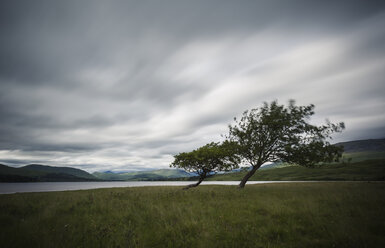
[[[0,162],[167,168],[277,99],[385,137],[385,1],[1,1]]]

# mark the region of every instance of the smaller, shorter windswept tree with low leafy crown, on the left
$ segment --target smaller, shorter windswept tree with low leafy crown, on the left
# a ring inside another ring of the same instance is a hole
[[[198,174],[198,182],[186,186],[185,189],[197,187],[210,174],[238,167],[240,160],[234,152],[234,146],[235,144],[229,141],[222,144],[212,142],[191,152],[175,155],[170,167]]]

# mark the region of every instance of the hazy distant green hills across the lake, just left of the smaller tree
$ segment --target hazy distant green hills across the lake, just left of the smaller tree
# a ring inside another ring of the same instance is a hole
[[[153,181],[153,180],[169,180],[172,178],[190,177],[191,175],[184,170],[178,169],[160,169],[153,171],[137,171],[137,172],[94,172],[93,175],[103,180],[120,180],[120,181]]]

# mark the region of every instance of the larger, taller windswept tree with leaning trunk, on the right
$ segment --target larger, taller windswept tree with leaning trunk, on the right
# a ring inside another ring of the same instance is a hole
[[[251,170],[244,176],[239,187],[266,162],[288,162],[313,167],[321,162],[338,161],[342,147],[329,143],[331,134],[341,132],[344,123],[326,121],[321,126],[309,123],[314,105],[296,106],[290,100],[288,106],[277,101],[258,109],[245,111],[240,120],[229,125],[228,139],[237,144],[236,153]]]

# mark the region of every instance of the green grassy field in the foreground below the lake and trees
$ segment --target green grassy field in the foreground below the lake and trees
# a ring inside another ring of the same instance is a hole
[[[1,247],[385,247],[385,183],[0,195]]]

